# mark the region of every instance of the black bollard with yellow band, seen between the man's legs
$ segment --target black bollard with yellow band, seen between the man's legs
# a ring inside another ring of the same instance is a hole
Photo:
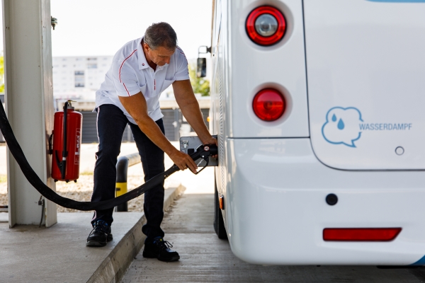
[[[121,156],[117,161],[117,178],[115,181],[115,197],[124,195],[127,192],[127,170],[128,167],[133,166],[137,163],[140,163],[139,154],[129,154],[126,156]],[[127,212],[128,206],[127,202],[118,205],[115,207],[115,212]]]

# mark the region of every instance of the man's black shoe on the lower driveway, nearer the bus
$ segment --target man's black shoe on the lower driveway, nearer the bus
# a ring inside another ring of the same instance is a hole
[[[155,237],[152,240],[146,238],[143,258],[157,258],[166,262],[179,260],[179,253],[170,250],[170,248],[173,248],[173,245],[168,241],[164,241],[162,237]]]

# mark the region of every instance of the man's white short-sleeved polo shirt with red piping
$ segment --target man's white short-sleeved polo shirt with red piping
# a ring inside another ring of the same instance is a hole
[[[135,120],[120,103],[118,96],[133,96],[140,91],[145,96],[147,112],[152,120],[164,117],[159,108],[159,96],[174,81],[189,79],[188,61],[183,51],[177,47],[171,55],[170,64],[157,66],[154,71],[142,50],[142,38],[126,43],[113,57],[111,68],[105,76],[101,88],[96,91],[96,108],[103,104],[113,104],[123,110],[128,120]]]

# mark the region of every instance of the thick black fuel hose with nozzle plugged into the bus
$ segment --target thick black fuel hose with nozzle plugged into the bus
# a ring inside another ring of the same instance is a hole
[[[162,184],[164,180],[169,177],[169,175],[179,171],[179,167],[174,164],[164,173],[159,173],[153,178],[149,179],[145,184],[136,187],[134,190],[125,193],[124,195],[120,195],[120,197],[115,197],[111,200],[103,200],[101,202],[77,202],[77,200],[71,200],[67,197],[62,197],[57,195],[57,193],[47,187],[45,183],[38,177],[37,173],[33,171],[30,163],[28,163],[25,154],[21,149],[21,146],[18,144],[15,135],[13,134],[13,130],[11,125],[9,124],[6,116],[6,112],[4,111],[3,103],[0,103],[0,129],[1,133],[3,133],[3,137],[6,141],[8,149],[11,151],[11,154],[15,158],[23,175],[27,178],[28,182],[35,187],[35,190],[38,190],[40,194],[45,197],[47,200],[55,202],[62,207],[67,207],[70,209],[77,209],[81,211],[89,211],[89,210],[103,210],[112,207],[118,206],[118,204],[122,204],[123,202],[128,202],[129,200],[138,197],[148,190],[151,190],[155,186]],[[217,154],[217,146],[214,145],[205,145],[199,146],[198,149],[191,154],[191,158],[193,160],[198,160],[199,158],[208,158],[208,156],[213,156]]]

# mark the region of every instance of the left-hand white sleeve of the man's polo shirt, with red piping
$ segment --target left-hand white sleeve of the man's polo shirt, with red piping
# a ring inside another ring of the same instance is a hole
[[[135,69],[123,60],[114,60],[112,63],[112,80],[118,96],[134,96],[140,93],[140,86],[137,83]]]

